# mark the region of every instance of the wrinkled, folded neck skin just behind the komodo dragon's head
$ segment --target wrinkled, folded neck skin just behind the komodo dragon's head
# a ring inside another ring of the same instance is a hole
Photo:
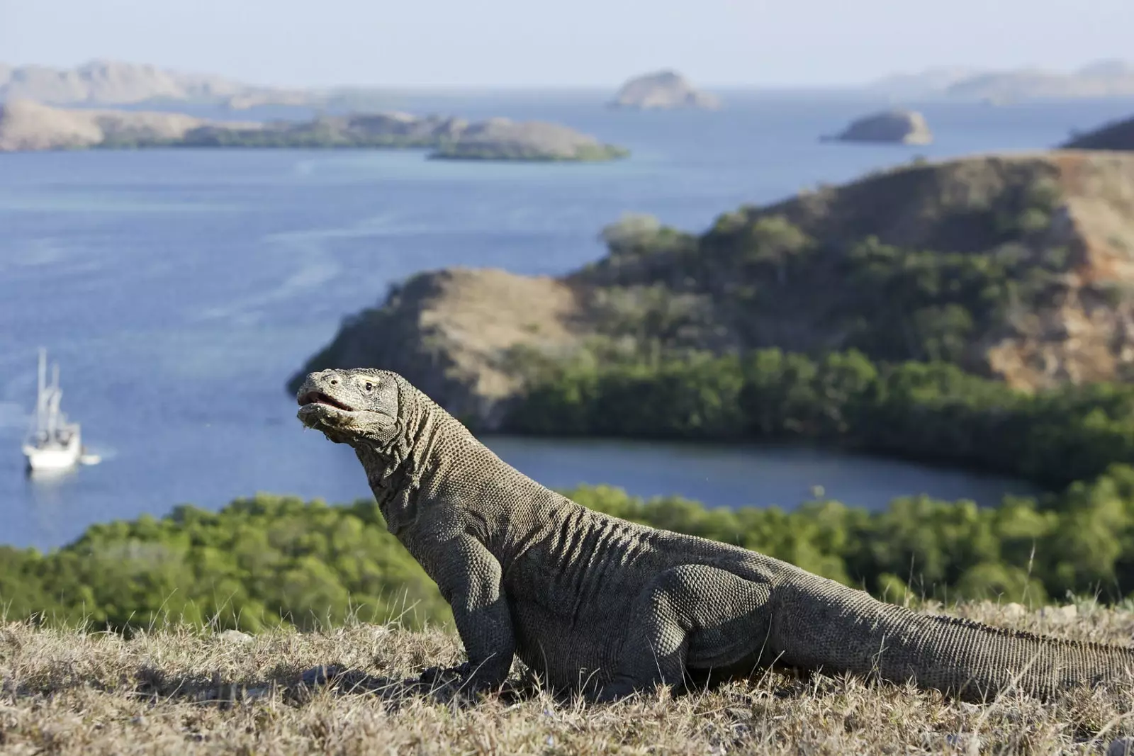
[[[417,518],[422,477],[435,473],[440,459],[437,442],[446,428],[447,414],[437,411],[425,394],[408,383],[398,384],[398,425],[388,443],[359,442],[358,461],[366,470],[374,499],[390,533],[397,536]]]

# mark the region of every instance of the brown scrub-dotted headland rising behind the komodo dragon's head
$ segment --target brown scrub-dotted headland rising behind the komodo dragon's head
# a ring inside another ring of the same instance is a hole
[[[1134,155],[916,163],[721,215],[648,219],[559,280],[412,279],[305,365],[389,367],[488,427],[531,371],[606,345],[945,359],[1022,389],[1134,365]],[[524,359],[521,360],[519,358]]]

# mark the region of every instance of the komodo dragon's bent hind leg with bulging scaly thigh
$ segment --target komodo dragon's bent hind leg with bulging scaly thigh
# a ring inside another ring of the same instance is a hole
[[[635,600],[613,679],[596,699],[679,687],[686,669],[755,663],[771,623],[770,596],[767,584],[704,564],[661,572]]]

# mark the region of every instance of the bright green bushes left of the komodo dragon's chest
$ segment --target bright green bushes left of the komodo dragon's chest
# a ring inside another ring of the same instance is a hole
[[[0,546],[0,612],[149,627],[168,617],[256,631],[339,625],[356,614],[415,625],[448,608],[373,502],[256,496],[222,512],[95,525],[41,555]]]

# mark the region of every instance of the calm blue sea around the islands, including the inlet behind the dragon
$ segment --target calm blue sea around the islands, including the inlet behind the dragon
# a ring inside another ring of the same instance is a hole
[[[0,155],[0,543],[51,547],[96,521],[219,508],[257,491],[369,495],[350,451],[302,432],[288,375],[391,281],[446,265],[562,273],[625,211],[702,229],[911,160],[1050,146],[1134,101],[926,104],[924,147],[820,143],[885,103],[733,94],[719,112],[634,113],[603,93],[391,99],[417,113],[568,124],[628,146],[602,165],[447,163],[421,152]],[[271,114],[279,114],[271,113]],[[262,117],[240,113],[240,118]],[[103,462],[23,473],[35,349]],[[822,485],[868,507],[925,492],[996,503],[1012,482],[807,450],[489,439],[553,486],[610,483],[713,506],[794,507]]]

